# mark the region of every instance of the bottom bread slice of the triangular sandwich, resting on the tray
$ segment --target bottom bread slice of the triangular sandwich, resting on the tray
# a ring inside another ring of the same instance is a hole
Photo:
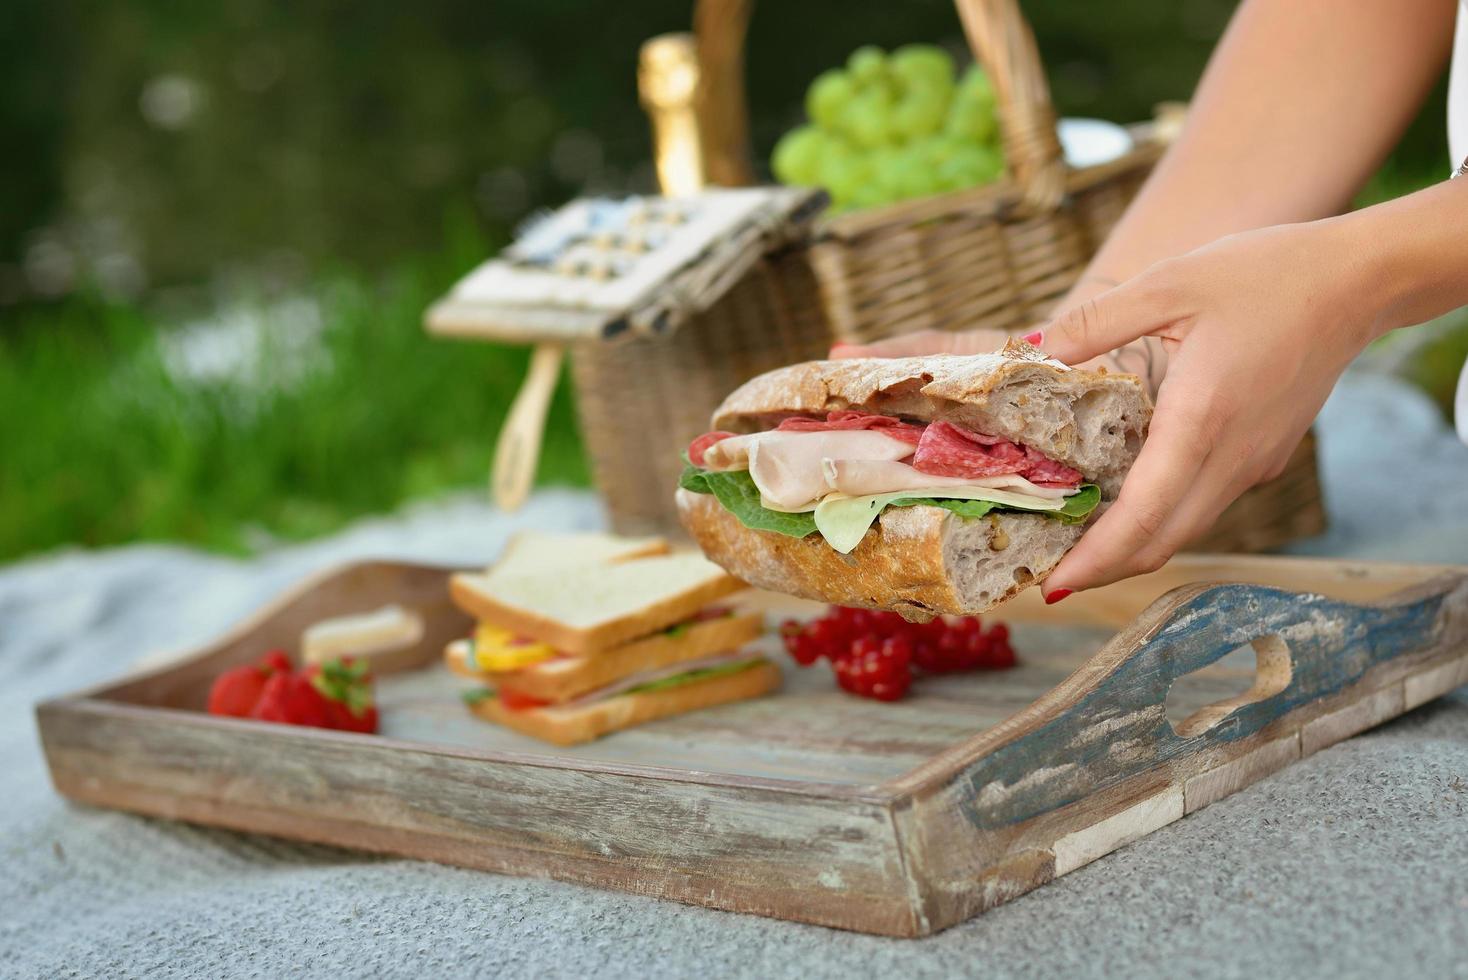
[[[533,707],[506,710],[499,698],[484,698],[470,710],[486,722],[512,728],[556,745],[589,742],[624,728],[659,717],[686,714],[715,704],[746,701],[780,687],[780,668],[768,660],[756,668],[708,681],[694,681],[662,691],[622,694],[578,707]]]

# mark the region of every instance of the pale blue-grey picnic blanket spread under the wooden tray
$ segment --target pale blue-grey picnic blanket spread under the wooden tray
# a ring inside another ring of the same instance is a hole
[[[1420,395],[1348,379],[1321,420],[1333,528],[1302,553],[1468,560],[1468,447]],[[1468,691],[1326,750],[1010,905],[887,940],[76,807],[31,706],[208,640],[354,557],[479,562],[518,527],[413,508],[252,560],[178,547],[0,569],[0,976],[1468,977]]]

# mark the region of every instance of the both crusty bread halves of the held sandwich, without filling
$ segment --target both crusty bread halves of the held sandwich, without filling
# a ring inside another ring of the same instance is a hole
[[[780,368],[730,395],[712,427],[762,431],[791,415],[843,409],[947,420],[1033,446],[1098,484],[1102,508],[1116,499],[1152,415],[1135,376],[1067,368],[1010,342],[994,354]],[[816,534],[746,528],[711,494],[678,490],[678,512],[703,553],[752,585],[913,619],[992,609],[1044,581],[1083,530],[1033,513],[964,519],[941,508],[888,508],[856,550],[841,555]]]

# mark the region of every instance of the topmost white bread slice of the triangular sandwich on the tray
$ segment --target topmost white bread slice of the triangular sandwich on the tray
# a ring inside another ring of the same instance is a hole
[[[743,587],[691,552],[449,579],[449,594],[468,615],[571,654],[600,653],[665,629]]]

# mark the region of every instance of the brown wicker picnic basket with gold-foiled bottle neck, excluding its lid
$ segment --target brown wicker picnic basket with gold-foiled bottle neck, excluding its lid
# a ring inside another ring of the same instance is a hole
[[[1164,145],[1154,126],[1101,166],[1072,169],[1033,34],[1016,0],[957,0],[989,73],[1009,172],[998,182],[818,220],[763,254],[727,293],[658,336],[571,345],[593,477],[622,533],[680,534],[680,453],[735,386],[822,356],[837,340],[913,330],[1014,330],[1078,280]],[[693,35],[643,47],[639,85],[664,194],[755,183],[744,101],[752,0],[697,0]],[[1324,525],[1314,445],[1245,494],[1207,540],[1262,550]]]

